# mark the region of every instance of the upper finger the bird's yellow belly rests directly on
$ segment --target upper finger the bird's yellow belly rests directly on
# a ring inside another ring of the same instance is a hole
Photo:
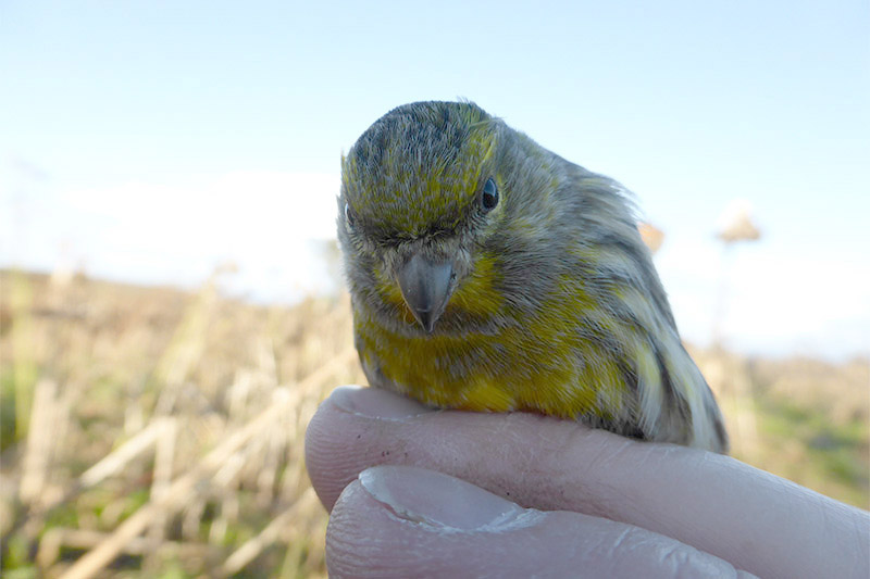
[[[427,412],[383,390],[338,389],[311,421],[307,461],[327,507],[369,466],[417,465],[523,506],[636,525],[757,575],[865,577],[870,568],[863,512],[725,456],[567,420]]]

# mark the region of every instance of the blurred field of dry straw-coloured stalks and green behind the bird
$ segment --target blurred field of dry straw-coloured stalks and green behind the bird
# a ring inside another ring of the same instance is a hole
[[[868,507],[867,360],[693,354],[737,458]],[[325,576],[303,435],[347,382],[364,378],[346,297],[0,272],[3,576]]]

